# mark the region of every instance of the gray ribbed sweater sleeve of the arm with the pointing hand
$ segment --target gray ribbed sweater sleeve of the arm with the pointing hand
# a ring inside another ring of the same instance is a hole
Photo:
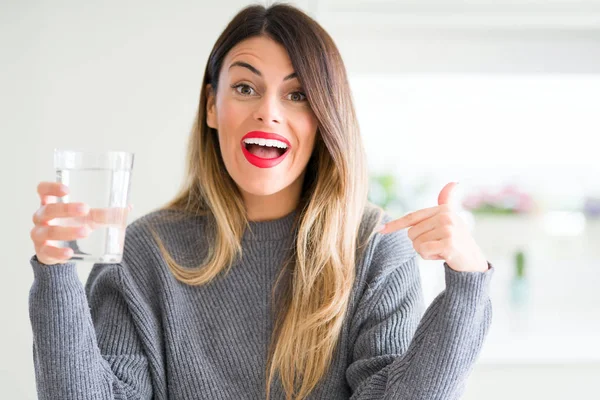
[[[351,323],[351,399],[458,399],[491,323],[494,270],[488,263],[485,272],[457,272],[443,263],[446,289],[423,314],[418,256],[402,234],[389,235],[395,239],[375,249]]]

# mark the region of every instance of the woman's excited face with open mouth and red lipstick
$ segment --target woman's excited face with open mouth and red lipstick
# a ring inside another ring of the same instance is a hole
[[[283,46],[254,37],[231,49],[216,97],[209,90],[207,124],[217,130],[225,167],[247,204],[279,204],[280,210],[282,202],[295,204],[314,148],[317,120]],[[265,133],[280,135],[279,141],[266,143],[275,147],[247,143]]]

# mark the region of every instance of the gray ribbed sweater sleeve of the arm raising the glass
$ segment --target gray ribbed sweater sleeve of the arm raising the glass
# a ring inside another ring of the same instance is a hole
[[[33,256],[30,264],[38,398],[150,399],[153,382],[131,309],[135,293],[123,284],[122,266],[95,265],[86,294],[74,263],[44,265]]]

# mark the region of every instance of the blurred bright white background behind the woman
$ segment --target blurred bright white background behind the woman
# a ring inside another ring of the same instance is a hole
[[[136,153],[131,219],[169,200],[210,49],[250,3],[0,2],[1,398],[36,398],[29,231],[53,149]],[[464,399],[600,398],[600,0],[291,3],[342,52],[371,201],[400,217],[460,182],[496,268]],[[430,302],[443,269],[421,262]]]

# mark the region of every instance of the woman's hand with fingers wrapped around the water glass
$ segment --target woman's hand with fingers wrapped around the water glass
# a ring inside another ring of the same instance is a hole
[[[40,208],[33,214],[34,227],[31,229],[31,240],[35,247],[37,259],[42,264],[61,264],[73,256],[73,250],[52,246],[48,241],[71,241],[87,237],[92,229],[82,226],[49,225],[54,218],[86,216],[90,207],[85,203],[56,203],[56,197],[69,193],[68,187],[58,182],[41,182],[37,187],[40,196]],[[85,220],[85,219],[83,219]]]

